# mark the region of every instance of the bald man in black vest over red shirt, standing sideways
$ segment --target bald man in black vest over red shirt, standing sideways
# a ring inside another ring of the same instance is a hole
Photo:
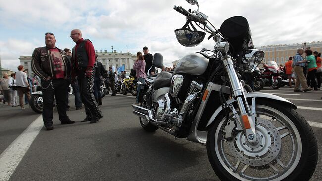
[[[72,53],[72,81],[77,77],[86,113],[86,118],[81,122],[95,123],[103,118],[93,94],[95,49],[90,40],[82,38],[82,32],[79,29],[72,30],[70,37],[76,43]]]

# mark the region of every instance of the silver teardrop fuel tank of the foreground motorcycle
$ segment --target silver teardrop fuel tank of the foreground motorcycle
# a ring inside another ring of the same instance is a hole
[[[181,58],[174,68],[173,75],[186,73],[190,75],[202,75],[208,66],[209,59],[200,53],[191,53]]]

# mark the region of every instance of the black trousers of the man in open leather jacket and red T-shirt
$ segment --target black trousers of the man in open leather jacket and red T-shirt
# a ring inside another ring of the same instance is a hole
[[[45,126],[53,125],[53,104],[56,97],[57,110],[60,121],[68,121],[66,113],[66,94],[68,90],[68,81],[66,79],[41,80],[43,92],[43,121]]]

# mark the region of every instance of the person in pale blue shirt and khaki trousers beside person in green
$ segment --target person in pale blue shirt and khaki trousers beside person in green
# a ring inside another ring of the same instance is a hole
[[[294,72],[296,73],[297,79],[294,87],[294,92],[301,92],[302,90],[299,89],[300,84],[302,86],[302,89],[304,92],[311,91],[312,88],[308,87],[308,84],[306,82],[303,68],[305,67],[306,60],[303,59],[302,54],[304,50],[302,48],[297,49],[297,54],[294,57]]]

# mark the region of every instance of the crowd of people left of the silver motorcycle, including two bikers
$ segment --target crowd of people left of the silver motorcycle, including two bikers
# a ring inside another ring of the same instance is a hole
[[[47,130],[53,130],[53,105],[54,97],[61,124],[73,124],[69,119],[69,87],[72,87],[75,95],[76,110],[85,109],[86,117],[81,122],[95,123],[103,118],[99,108],[102,105],[100,86],[105,84],[111,89],[111,96],[115,96],[115,83],[119,80],[117,72],[112,67],[105,70],[101,62],[97,61],[94,46],[88,39],[83,39],[82,32],[74,29],[70,33],[71,39],[76,45],[71,49],[59,49],[55,46],[54,33],[45,33],[45,46],[37,47],[32,53],[32,71],[34,78],[24,71],[24,66],[19,65],[18,71],[4,74],[1,80],[0,90],[3,92],[3,103],[10,106],[19,105],[25,109],[25,104],[30,102],[32,91],[36,91],[35,85],[41,87],[43,97],[42,117]],[[137,53],[137,60],[133,65],[133,76],[137,81],[144,83],[147,75],[153,76],[155,68],[152,66],[153,55],[148,47],[143,47],[143,54]],[[162,67],[162,71],[173,71],[168,67]],[[126,71],[122,71],[120,78],[126,77]],[[109,89],[108,88],[108,89]],[[34,90],[32,90],[34,89]],[[140,87],[137,89],[137,100]],[[108,93],[108,92],[107,92]]]

